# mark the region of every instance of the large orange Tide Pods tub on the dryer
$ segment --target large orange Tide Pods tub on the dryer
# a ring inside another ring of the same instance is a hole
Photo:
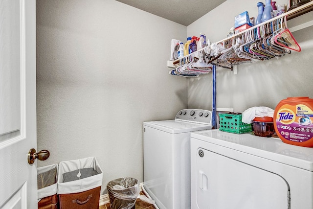
[[[285,143],[313,147],[313,99],[288,97],[274,111],[274,128]]]

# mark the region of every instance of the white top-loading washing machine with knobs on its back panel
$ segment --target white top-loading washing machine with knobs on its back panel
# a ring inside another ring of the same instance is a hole
[[[143,187],[159,209],[190,209],[190,132],[211,129],[211,120],[211,111],[185,109],[143,123]]]

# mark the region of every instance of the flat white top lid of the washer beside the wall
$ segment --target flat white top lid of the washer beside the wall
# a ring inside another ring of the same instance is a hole
[[[161,120],[143,122],[143,125],[155,128],[161,131],[165,131],[171,134],[186,133],[192,131],[200,131],[211,129],[211,125],[204,125],[199,123],[178,121],[178,120]]]

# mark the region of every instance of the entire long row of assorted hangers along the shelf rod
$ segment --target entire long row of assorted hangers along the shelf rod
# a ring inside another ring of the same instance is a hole
[[[212,66],[232,68],[233,65],[279,58],[291,50],[301,51],[287,27],[287,16],[247,30],[238,36],[218,44],[213,43],[202,50],[179,60],[179,67],[172,75],[198,77],[212,72]]]

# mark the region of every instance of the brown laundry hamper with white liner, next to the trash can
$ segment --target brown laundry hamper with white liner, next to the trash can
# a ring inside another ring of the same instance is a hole
[[[59,163],[60,209],[98,209],[103,172],[95,157]]]

